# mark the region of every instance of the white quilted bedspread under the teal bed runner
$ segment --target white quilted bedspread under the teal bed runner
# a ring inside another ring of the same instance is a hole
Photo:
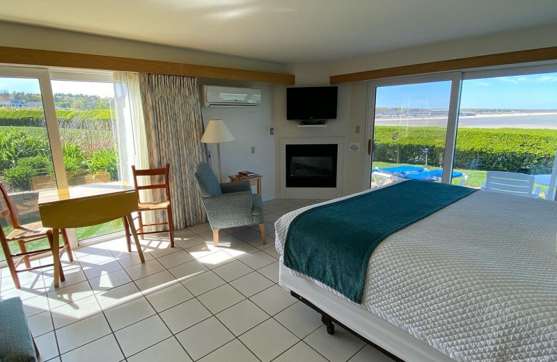
[[[456,361],[557,361],[556,237],[557,203],[477,191],[385,239],[361,306]]]

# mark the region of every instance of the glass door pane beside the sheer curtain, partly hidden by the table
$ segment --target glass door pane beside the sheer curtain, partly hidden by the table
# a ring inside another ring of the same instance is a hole
[[[52,74],[56,79],[51,84],[68,186],[121,181],[111,77],[92,80],[89,75],[87,80],[76,80],[75,73],[70,79],[64,76]],[[118,219],[77,228],[76,237],[81,241],[120,230],[124,228]]]

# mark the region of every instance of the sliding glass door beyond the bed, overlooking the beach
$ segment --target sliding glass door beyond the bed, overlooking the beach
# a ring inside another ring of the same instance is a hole
[[[480,188],[503,171],[533,175],[554,199],[557,65],[373,81],[369,104],[366,187],[416,178]]]

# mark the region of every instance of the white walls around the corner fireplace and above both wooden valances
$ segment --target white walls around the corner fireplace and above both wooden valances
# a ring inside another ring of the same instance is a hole
[[[557,45],[557,26],[505,33],[497,36],[457,40],[427,47],[400,49],[394,52],[363,56],[335,63],[281,65],[246,58],[224,56],[191,49],[155,45],[102,36],[91,36],[71,31],[40,28],[21,24],[0,22],[0,45],[7,47],[29,47],[65,52],[82,52],[133,58],[148,58],[162,61],[178,61],[228,68],[285,72],[295,74],[296,86],[326,86],[329,76],[350,72],[361,72],[399,65],[426,63],[452,58],[464,58],[524,49],[554,47]],[[109,69],[107,65],[107,69]],[[202,80],[204,84],[222,86],[246,86],[246,83],[219,80]],[[286,120],[285,86],[248,84],[262,89],[262,105],[258,109],[203,109],[205,123],[210,118],[223,118],[236,140],[221,145],[223,175],[249,169],[262,173],[263,194],[271,198],[280,197],[280,150],[281,137],[329,137],[345,138],[345,147],[350,142],[361,143],[359,152],[345,150],[343,168],[343,193],[361,191],[363,187],[363,152],[366,151],[366,107],[367,84],[341,84],[338,92],[338,119],[331,120],[324,129],[299,129]],[[356,134],[356,126],[360,132]],[[269,128],[275,128],[275,136],[269,136]],[[256,154],[251,155],[251,145]],[[210,146],[210,149],[213,146]],[[212,155],[215,150],[212,149]],[[216,163],[216,159],[214,159]]]

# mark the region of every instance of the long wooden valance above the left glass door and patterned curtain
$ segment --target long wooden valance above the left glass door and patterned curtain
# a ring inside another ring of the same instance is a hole
[[[292,74],[257,72],[254,70],[221,68],[209,65],[16,47],[0,47],[0,63],[41,65],[45,67],[120,70],[124,72],[145,72],[202,78],[259,81],[263,83],[295,84],[295,76]]]

